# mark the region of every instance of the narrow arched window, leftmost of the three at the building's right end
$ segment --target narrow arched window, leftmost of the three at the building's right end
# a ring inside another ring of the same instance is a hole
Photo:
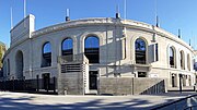
[[[175,68],[175,49],[173,47],[170,47],[170,65],[171,68]]]

